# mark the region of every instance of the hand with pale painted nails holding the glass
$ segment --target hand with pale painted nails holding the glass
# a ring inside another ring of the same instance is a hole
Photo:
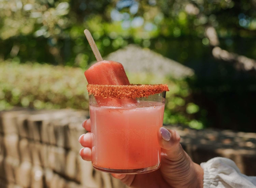
[[[92,134],[90,119],[82,126],[88,133],[81,135],[80,150],[82,159],[92,160]],[[161,149],[161,166],[154,172],[145,174],[111,174],[131,188],[203,188],[203,169],[193,163],[180,145],[176,131],[161,127],[157,133]]]

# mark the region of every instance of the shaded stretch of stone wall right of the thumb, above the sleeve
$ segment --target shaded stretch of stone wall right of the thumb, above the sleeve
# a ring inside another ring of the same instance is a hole
[[[235,161],[240,171],[256,176],[256,133],[230,130],[193,130],[182,126],[167,126],[176,130],[181,145],[195,163],[214,157],[227,157]]]

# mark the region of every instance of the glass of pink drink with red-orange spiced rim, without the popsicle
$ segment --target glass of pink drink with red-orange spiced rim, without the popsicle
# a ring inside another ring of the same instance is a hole
[[[163,125],[168,87],[88,85],[87,88],[91,94],[93,167],[130,174],[159,168],[161,150],[157,131]],[[118,105],[100,105],[98,98],[113,99]],[[132,102],[127,103],[128,99]]]

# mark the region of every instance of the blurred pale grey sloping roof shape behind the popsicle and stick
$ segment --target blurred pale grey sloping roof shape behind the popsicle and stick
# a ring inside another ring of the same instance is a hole
[[[184,78],[194,74],[193,69],[137,45],[127,45],[103,59],[121,62],[125,70],[130,73],[146,72],[173,78]]]

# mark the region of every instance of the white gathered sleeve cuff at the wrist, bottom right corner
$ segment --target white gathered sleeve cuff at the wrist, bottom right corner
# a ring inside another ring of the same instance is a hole
[[[256,177],[241,174],[234,161],[216,157],[201,163],[204,188],[256,188]]]

